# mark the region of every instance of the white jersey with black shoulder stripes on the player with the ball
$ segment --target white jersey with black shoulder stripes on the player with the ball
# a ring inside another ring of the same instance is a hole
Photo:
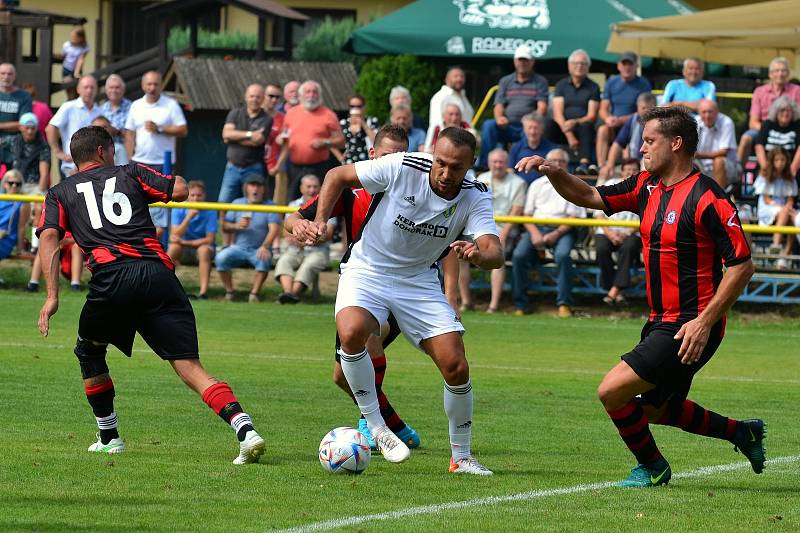
[[[372,197],[361,236],[343,259],[342,271],[362,268],[414,276],[446,255],[463,235],[497,235],[492,195],[469,171],[452,200],[430,186],[432,156],[396,153],[355,164]]]

